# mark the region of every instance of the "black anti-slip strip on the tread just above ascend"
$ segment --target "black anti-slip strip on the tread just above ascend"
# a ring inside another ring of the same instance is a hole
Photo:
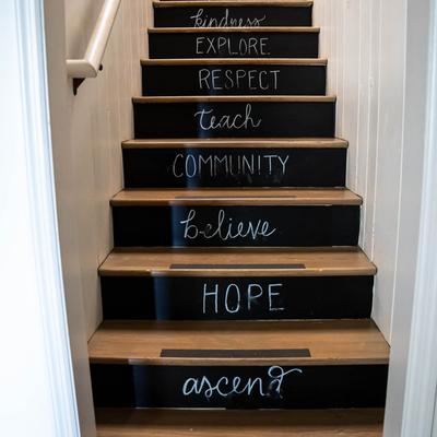
[[[310,358],[309,349],[218,350],[163,349],[163,358]]]

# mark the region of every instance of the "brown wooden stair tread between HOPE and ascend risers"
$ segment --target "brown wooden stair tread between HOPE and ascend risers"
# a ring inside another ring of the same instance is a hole
[[[307,357],[162,357],[162,350],[308,349]],[[91,363],[146,365],[387,364],[375,323],[328,321],[105,321],[88,343]]]

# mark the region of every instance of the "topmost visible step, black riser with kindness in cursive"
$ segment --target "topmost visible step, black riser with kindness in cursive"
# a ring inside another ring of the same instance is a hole
[[[311,26],[311,1],[154,1],[155,27]]]

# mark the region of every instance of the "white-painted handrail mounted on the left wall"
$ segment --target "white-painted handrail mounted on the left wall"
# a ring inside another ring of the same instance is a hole
[[[121,0],[105,0],[83,59],[67,59],[67,72],[73,79],[73,92],[87,78],[96,78]]]

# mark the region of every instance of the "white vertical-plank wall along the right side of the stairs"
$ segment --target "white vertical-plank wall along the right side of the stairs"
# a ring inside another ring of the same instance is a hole
[[[350,141],[347,186],[364,197],[361,245],[378,267],[373,317],[391,338],[397,292],[406,0],[315,0],[336,134]]]

